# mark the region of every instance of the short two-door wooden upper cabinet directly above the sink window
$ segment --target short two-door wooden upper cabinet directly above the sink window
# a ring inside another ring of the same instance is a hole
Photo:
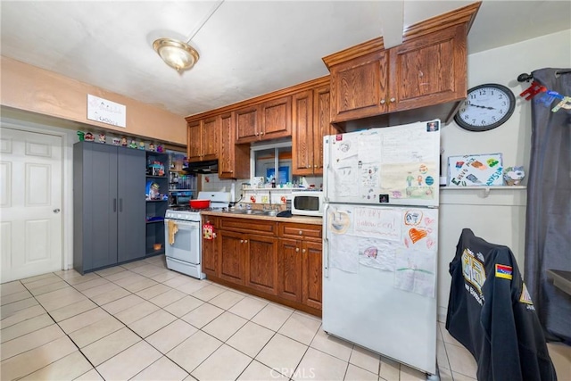
[[[236,111],[236,144],[291,136],[290,95]]]

